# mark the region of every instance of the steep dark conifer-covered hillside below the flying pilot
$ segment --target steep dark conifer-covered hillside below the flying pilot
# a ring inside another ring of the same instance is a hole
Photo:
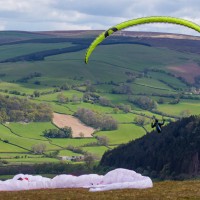
[[[200,116],[183,118],[106,152],[100,166],[136,170],[152,178],[188,178],[200,174]]]

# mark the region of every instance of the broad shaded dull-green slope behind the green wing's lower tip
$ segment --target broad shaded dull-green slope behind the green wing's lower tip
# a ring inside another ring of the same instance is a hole
[[[159,57],[157,56],[158,52],[160,52]],[[92,81],[110,81],[111,77],[115,81],[123,81],[126,78],[124,72],[128,69],[135,71],[142,71],[149,67],[166,69],[165,66],[170,64],[182,64],[183,60],[180,57],[199,60],[196,54],[188,55],[168,49],[140,45],[100,46],[92,55],[91,62],[88,65],[83,63],[84,54],[85,51],[79,51],[50,56],[45,61],[4,63],[0,64],[0,71],[7,73],[9,70],[9,77],[7,78],[11,80],[18,76],[25,76],[30,71],[39,71],[44,74],[44,77],[50,79],[56,77],[73,79],[76,76]],[[95,67],[97,65],[98,68]],[[55,66],[59,70],[55,71]],[[156,78],[159,77],[160,75]]]

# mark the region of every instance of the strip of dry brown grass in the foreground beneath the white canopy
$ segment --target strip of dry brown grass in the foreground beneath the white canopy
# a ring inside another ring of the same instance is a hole
[[[151,189],[127,189],[106,192],[88,192],[87,189],[48,189],[19,192],[0,192],[0,200],[119,200],[119,199],[200,199],[200,181],[165,181],[154,183]]]

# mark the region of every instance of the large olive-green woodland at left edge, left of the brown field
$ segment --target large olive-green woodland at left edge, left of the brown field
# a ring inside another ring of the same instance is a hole
[[[48,104],[36,104],[25,98],[0,95],[0,122],[51,121],[53,112]]]

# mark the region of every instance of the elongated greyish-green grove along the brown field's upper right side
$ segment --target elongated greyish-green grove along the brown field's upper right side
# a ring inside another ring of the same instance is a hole
[[[112,116],[108,116],[99,112],[86,108],[79,108],[75,113],[83,123],[96,129],[110,131],[118,128],[118,123]]]

